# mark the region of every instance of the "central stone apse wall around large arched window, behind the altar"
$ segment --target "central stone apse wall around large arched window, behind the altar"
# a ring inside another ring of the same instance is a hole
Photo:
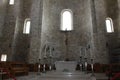
[[[60,14],[63,9],[73,12],[73,31],[67,32],[68,45],[66,53],[65,32],[60,30]],[[44,46],[54,47],[53,57],[57,60],[78,60],[80,48],[87,48],[91,37],[91,9],[89,0],[44,0],[41,36],[41,52],[44,56]],[[49,56],[49,53],[47,54]],[[90,53],[82,54],[90,57]]]

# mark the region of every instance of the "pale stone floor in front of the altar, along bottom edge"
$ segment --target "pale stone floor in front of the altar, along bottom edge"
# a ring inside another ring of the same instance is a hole
[[[48,71],[46,73],[29,73],[28,76],[17,77],[17,80],[107,80],[105,74],[96,73],[95,77],[91,77],[91,73],[86,74],[84,72],[56,72]],[[12,79],[7,79],[12,80]]]

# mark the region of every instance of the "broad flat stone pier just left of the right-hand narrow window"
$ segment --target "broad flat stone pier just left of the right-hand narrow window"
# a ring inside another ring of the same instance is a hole
[[[105,0],[94,0],[94,13],[95,17],[93,19],[95,20],[95,23],[93,23],[93,28],[96,27],[96,29],[93,29],[93,40],[94,42],[94,52],[93,56],[95,58],[95,62],[99,63],[108,63],[108,52],[106,48],[106,36],[105,36],[105,19],[106,19],[106,4]]]

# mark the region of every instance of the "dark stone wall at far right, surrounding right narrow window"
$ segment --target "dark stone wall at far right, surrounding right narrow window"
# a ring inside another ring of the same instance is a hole
[[[117,0],[106,0],[107,17],[113,20],[114,33],[107,34],[109,48],[111,50],[119,47],[119,9]]]

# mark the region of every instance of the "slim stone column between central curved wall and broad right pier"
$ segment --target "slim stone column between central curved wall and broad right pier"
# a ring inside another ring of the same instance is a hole
[[[90,1],[90,7],[91,7],[91,23],[92,26],[90,28],[91,32],[90,32],[90,59],[94,59],[95,58],[95,40],[94,40],[94,33],[97,33],[97,23],[96,23],[96,10],[95,10],[95,1],[91,0]]]

